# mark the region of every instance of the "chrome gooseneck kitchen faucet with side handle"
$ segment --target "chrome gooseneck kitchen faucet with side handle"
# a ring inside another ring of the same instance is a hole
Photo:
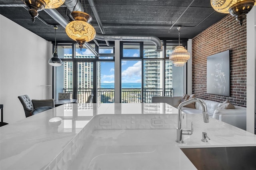
[[[191,130],[183,130],[181,128],[181,108],[184,105],[188,105],[193,102],[198,102],[202,106],[202,114],[203,114],[203,118],[204,118],[204,123],[209,123],[209,115],[207,113],[207,107],[202,99],[192,98],[192,99],[189,99],[187,101],[180,103],[180,105],[178,106],[178,128],[177,128],[177,139],[176,139],[176,142],[178,142],[178,143],[183,143],[182,134],[191,135],[193,133],[193,122],[191,122]]]

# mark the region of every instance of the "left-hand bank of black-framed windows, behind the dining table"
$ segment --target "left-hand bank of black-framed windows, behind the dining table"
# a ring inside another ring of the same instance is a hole
[[[85,103],[90,94],[94,94],[94,102],[114,102],[114,89],[111,89],[114,87],[114,47],[98,47],[95,44],[91,46],[99,56],[95,56],[86,47],[80,49],[74,43],[58,43],[58,55],[62,59],[62,65],[54,67],[55,99],[58,99],[58,93],[70,92],[72,98],[78,99],[78,103]],[[113,85],[108,88],[106,83]]]

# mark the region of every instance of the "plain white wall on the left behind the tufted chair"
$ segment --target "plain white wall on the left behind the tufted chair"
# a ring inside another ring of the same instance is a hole
[[[51,55],[50,42],[0,15],[0,104],[4,105],[4,122],[25,118],[19,95],[46,99],[47,87],[42,85],[51,82]],[[51,98],[51,88],[49,94]]]

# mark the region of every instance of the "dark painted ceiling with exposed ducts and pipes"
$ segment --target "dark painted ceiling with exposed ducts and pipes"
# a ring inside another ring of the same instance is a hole
[[[193,38],[227,15],[215,12],[210,0],[194,0],[186,10],[191,2],[192,0],[94,0],[105,34],[178,38],[177,26],[181,26],[180,37]],[[1,0],[0,14],[45,40],[54,40],[54,28],[44,24],[38,18],[33,23],[24,7],[26,6],[21,0]],[[83,8],[84,12],[92,16],[90,23],[96,32],[102,33],[87,0],[83,1]],[[70,10],[65,4],[56,10],[68,22],[70,21]],[[59,25],[44,10],[38,13],[46,23]],[[57,40],[70,41],[65,29],[62,26],[58,28]],[[171,28],[170,32],[168,32],[169,28]]]

